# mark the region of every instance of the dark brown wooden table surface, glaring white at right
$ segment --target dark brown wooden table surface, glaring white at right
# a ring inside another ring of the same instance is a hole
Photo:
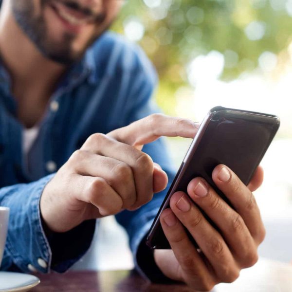
[[[38,275],[41,283],[31,292],[189,292],[183,285],[150,284],[134,271],[68,272]],[[219,284],[212,292],[292,292],[292,265],[260,259],[241,271],[232,284]]]

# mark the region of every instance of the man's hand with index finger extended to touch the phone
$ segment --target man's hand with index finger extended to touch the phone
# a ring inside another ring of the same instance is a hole
[[[153,114],[109,134],[91,135],[46,185],[40,211],[47,227],[66,232],[87,219],[135,210],[167,185],[160,165],[142,152],[160,136],[194,138],[198,124]]]

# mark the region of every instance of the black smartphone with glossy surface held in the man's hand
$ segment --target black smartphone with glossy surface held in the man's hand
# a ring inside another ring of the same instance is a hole
[[[246,185],[250,182],[256,167],[270,146],[280,119],[271,114],[246,110],[216,107],[204,118],[189,147],[168,192],[146,237],[151,249],[169,249],[159,218],[173,193],[187,193],[188,183],[196,178],[204,178],[230,205],[230,201],[212,180],[212,172],[218,164],[230,167]],[[216,228],[206,214],[205,217]],[[188,233],[188,232],[187,232]],[[197,246],[195,240],[188,233]]]

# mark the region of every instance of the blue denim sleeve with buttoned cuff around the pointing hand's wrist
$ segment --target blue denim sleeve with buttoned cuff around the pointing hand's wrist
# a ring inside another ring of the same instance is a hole
[[[85,221],[63,234],[47,236],[44,232],[39,201],[53,176],[0,189],[0,205],[10,208],[1,270],[24,273],[54,270],[61,273],[88,250],[94,233],[94,220]]]

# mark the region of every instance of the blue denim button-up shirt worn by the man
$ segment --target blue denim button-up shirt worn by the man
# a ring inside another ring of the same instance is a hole
[[[1,270],[62,273],[86,253],[95,220],[47,237],[39,209],[42,191],[92,133],[108,133],[157,112],[151,101],[156,79],[140,48],[123,37],[105,33],[58,84],[28,154],[30,163],[26,164],[22,153],[23,125],[16,118],[17,103],[9,75],[0,65],[0,205],[10,208]],[[162,166],[170,184],[174,172],[164,140],[145,145],[143,151]],[[152,269],[153,258],[146,256],[144,247],[139,248],[142,254],[138,260],[138,247],[144,244],[143,238],[164,196],[162,191],[140,209],[116,215],[128,232],[136,267],[146,275]]]

